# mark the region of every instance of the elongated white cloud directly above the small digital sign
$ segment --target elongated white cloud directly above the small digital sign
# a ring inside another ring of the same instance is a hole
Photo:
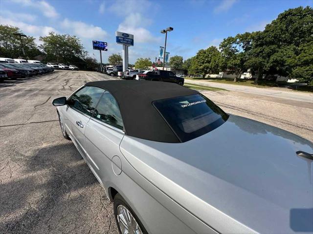
[[[108,33],[101,27],[81,21],[65,19],[61,22],[61,27],[81,38],[104,39],[104,37],[108,36]]]

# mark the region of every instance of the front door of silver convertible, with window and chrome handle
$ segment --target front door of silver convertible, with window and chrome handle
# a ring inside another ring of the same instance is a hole
[[[101,88],[84,86],[67,100],[66,127],[74,144],[84,156],[86,156],[85,129],[103,93],[104,90]]]

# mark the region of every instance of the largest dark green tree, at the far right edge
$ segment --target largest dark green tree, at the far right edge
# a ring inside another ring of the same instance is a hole
[[[256,32],[246,62],[252,73],[258,74],[254,82],[257,83],[263,74],[295,76],[300,80],[303,80],[301,76],[304,76],[305,80],[310,82],[308,76],[312,63],[306,62],[310,59],[305,59],[302,63],[295,62],[295,59],[301,61],[302,56],[310,58],[310,55],[306,55],[301,48],[313,43],[312,35],[312,7],[289,9],[279,14],[263,32]]]

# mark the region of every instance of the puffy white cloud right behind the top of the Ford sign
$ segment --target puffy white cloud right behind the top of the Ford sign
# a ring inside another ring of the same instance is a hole
[[[134,41],[138,43],[158,42],[160,37],[153,36],[142,25],[148,25],[151,20],[145,19],[140,13],[132,13],[118,25],[117,31],[130,33],[134,35]]]

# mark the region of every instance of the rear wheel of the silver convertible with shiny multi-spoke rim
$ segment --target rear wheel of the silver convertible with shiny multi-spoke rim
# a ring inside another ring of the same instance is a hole
[[[116,194],[113,200],[114,216],[120,234],[147,234],[137,215],[129,207],[120,194]]]

